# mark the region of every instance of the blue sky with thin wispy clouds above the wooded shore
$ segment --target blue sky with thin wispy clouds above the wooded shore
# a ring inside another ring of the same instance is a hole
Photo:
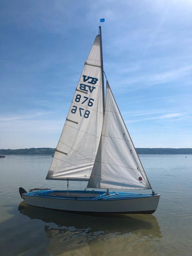
[[[100,18],[104,71],[135,147],[192,147],[192,1],[0,5],[0,149],[57,146]]]

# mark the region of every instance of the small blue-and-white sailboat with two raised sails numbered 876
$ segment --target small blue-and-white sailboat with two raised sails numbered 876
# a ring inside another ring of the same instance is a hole
[[[157,209],[160,195],[151,188],[108,81],[105,99],[101,26],[46,179],[67,181],[67,190],[38,188],[27,193],[20,187],[27,205],[83,213],[152,214]],[[70,181],[87,181],[92,190],[69,190]],[[119,192],[123,189],[152,192]]]

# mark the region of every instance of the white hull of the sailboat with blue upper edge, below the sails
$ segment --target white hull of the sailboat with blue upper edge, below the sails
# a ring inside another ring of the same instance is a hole
[[[27,193],[30,194],[30,193]],[[130,198],[123,199],[125,195],[119,195],[117,199],[89,199],[89,198],[53,198],[46,196],[31,196],[23,195],[25,203],[27,205],[33,205],[38,207],[44,207],[48,209],[63,210],[63,211],[75,211],[86,213],[144,213],[151,214],[157,209],[159,196],[153,195],[148,197],[133,197],[133,193]],[[113,195],[112,195],[113,197]],[[127,196],[128,197],[128,196]],[[110,198],[110,197],[109,197]]]

